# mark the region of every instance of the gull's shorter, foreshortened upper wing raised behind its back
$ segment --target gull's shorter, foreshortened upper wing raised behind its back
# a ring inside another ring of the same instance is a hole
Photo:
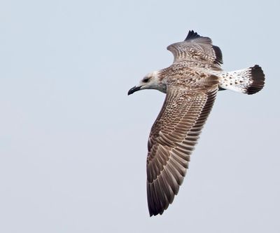
[[[223,64],[222,51],[213,46],[209,37],[200,36],[196,32],[188,32],[185,41],[171,44],[167,47],[174,55],[175,62],[193,61],[199,63]]]

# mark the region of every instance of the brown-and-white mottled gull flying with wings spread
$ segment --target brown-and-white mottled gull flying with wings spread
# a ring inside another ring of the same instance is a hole
[[[222,52],[209,37],[194,31],[167,47],[174,62],[141,79],[128,95],[144,89],[166,93],[148,138],[147,197],[150,216],[162,214],[179,192],[193,152],[221,90],[252,95],[265,85],[265,74],[254,65],[225,72]]]

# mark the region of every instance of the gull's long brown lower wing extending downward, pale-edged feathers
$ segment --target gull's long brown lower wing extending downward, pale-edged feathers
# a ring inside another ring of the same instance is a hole
[[[162,214],[179,192],[218,85],[203,91],[169,88],[148,140],[147,194],[150,215]]]

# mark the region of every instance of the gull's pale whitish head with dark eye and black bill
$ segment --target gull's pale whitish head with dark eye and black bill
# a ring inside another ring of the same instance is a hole
[[[137,86],[134,86],[130,89],[130,91],[128,91],[128,95],[131,95],[135,91],[140,91],[144,89],[156,89],[164,93],[166,92],[165,85],[162,84],[162,80],[159,79],[158,71],[151,72],[144,76],[144,78],[141,79]]]

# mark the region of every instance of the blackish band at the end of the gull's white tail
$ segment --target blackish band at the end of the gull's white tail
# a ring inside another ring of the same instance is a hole
[[[259,65],[251,67],[251,79],[253,79],[253,82],[246,90],[248,95],[259,92],[265,86],[265,74]]]

